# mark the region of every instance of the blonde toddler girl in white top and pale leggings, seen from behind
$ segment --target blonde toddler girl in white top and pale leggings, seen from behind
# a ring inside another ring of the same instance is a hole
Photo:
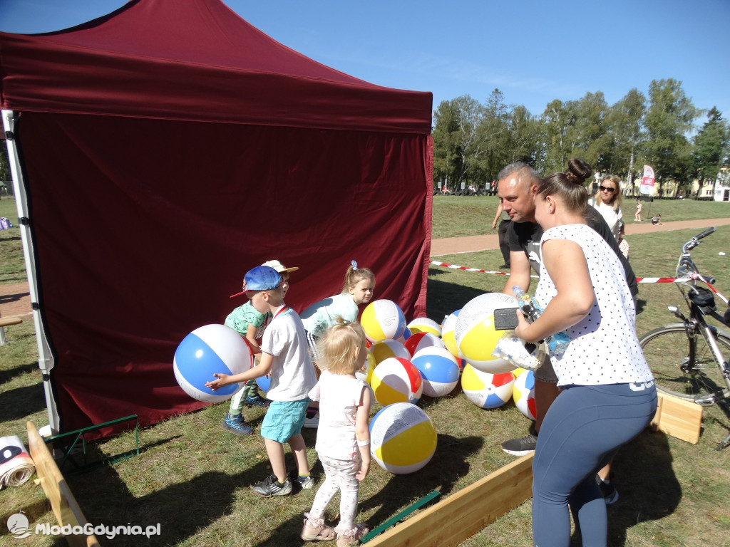
[[[337,546],[355,546],[367,532],[365,524],[355,524],[360,481],[370,469],[370,431],[368,416],[372,392],[356,379],[365,357],[365,333],[359,323],[342,319],[320,340],[322,374],[310,391],[320,401],[317,454],[324,468],[325,481],[315,495],[309,513],[304,513],[301,539],[333,540]],[[324,524],[324,511],[334,494],[340,492],[339,524]]]

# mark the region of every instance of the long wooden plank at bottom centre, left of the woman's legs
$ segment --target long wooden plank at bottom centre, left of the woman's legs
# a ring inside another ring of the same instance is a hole
[[[451,547],[466,541],[532,496],[532,457],[516,459],[366,545]]]

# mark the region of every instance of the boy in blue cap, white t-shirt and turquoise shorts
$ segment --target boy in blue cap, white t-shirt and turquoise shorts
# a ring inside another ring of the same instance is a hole
[[[301,425],[310,403],[307,393],[317,383],[317,375],[307,351],[307,335],[301,319],[284,303],[280,274],[269,266],[256,266],[246,274],[243,282],[244,292],[256,311],[273,316],[261,338],[261,360],[250,370],[233,376],[215,373],[216,380],[205,385],[218,389],[271,374],[271,387],[266,395],[272,403],[261,423],[261,436],[273,473],[254,484],[253,492],[265,497],[285,496],[291,494],[292,482],[299,483],[302,488],[311,488],[314,484]],[[286,442],[291,446],[297,465],[291,481],[284,459]]]

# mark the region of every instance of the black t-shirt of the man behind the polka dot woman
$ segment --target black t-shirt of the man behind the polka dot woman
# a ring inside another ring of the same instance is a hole
[[[585,212],[585,222],[593,230],[596,230],[599,236],[606,240],[606,243],[618,257],[618,260],[621,260],[623,271],[626,272],[626,284],[629,285],[631,295],[636,296],[639,293],[637,276],[634,275],[634,270],[631,269],[629,260],[626,260],[621,249],[618,248],[618,241],[616,241],[616,238],[611,233],[611,229],[608,227],[604,217],[593,207],[588,207],[588,210]],[[510,242],[510,252],[525,252],[532,269],[537,275],[540,274],[540,263],[542,262],[540,256],[540,238],[542,238],[542,232],[542,227],[532,222],[510,222],[510,228],[507,228],[507,241]]]

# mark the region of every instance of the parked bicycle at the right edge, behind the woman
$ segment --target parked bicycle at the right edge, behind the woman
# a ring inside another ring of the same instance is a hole
[[[715,278],[700,274],[690,255],[700,240],[714,231],[714,227],[708,228],[687,241],[677,263],[675,284],[687,303],[689,317],[677,306],[667,306],[681,322],[654,329],[639,340],[657,389],[701,406],[730,400],[730,333],[705,321],[705,317],[712,317],[730,327],[730,307],[722,316],[718,314],[715,295],[730,304],[712,287]],[[710,288],[699,287],[698,282]],[[727,446],[730,435],[717,450]]]

